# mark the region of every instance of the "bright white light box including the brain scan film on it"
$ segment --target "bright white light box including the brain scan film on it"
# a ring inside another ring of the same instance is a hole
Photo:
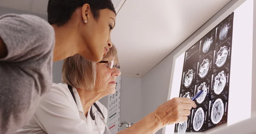
[[[188,120],[165,134],[210,132],[251,117],[253,0],[246,0],[198,42],[176,55],[169,99],[192,98]]]

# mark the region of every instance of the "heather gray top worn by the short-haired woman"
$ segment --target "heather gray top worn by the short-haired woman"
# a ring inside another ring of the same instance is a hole
[[[0,134],[13,134],[32,117],[52,85],[54,29],[33,15],[0,17]]]

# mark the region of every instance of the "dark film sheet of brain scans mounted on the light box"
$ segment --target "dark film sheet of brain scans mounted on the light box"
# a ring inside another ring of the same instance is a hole
[[[180,97],[192,98],[197,108],[188,120],[175,124],[175,132],[206,131],[227,123],[234,12],[186,51]]]

